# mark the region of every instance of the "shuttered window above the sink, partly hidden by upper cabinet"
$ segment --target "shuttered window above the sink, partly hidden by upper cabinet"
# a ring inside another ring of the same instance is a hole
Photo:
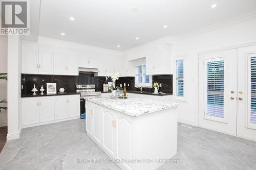
[[[152,76],[146,75],[146,65],[136,66],[135,87],[152,87]]]

